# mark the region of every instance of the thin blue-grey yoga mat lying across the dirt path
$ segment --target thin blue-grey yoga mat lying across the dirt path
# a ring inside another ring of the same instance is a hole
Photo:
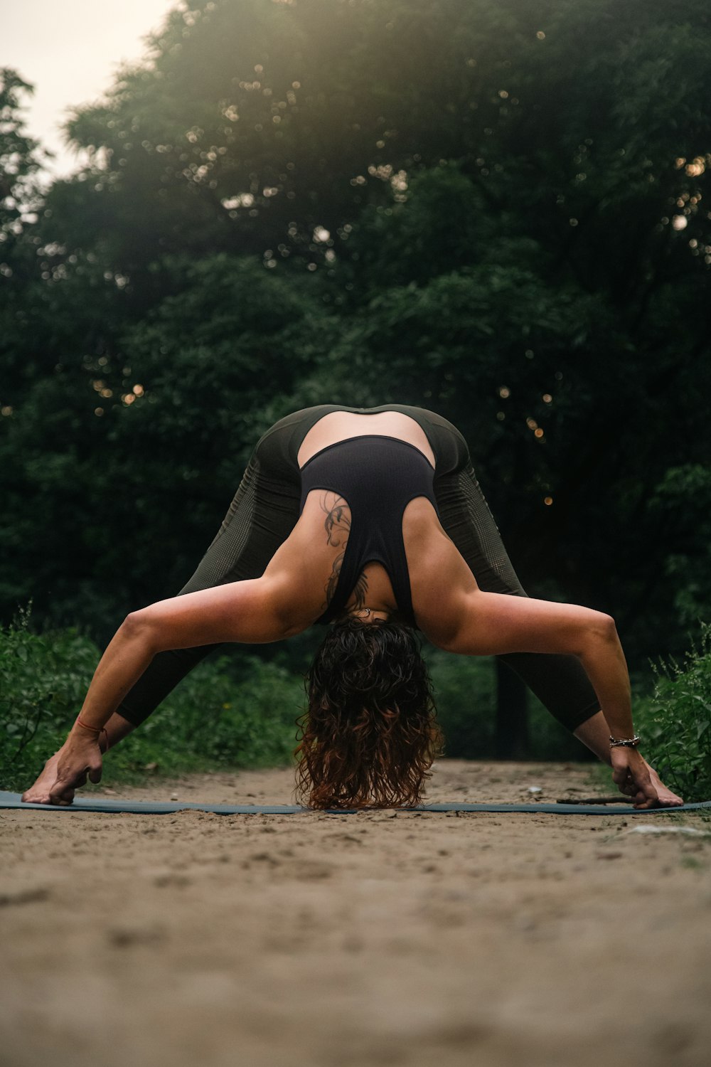
[[[77,797],[68,807],[58,807],[43,803],[22,803],[19,793],[0,792],[0,808],[20,808],[27,811],[94,811],[94,812],[128,812],[132,815],[167,815],[176,811],[209,811],[215,815],[297,815],[312,812],[311,808],[300,808],[295,805],[242,805],[242,803],[188,803],[182,800],[157,802],[152,800],[106,800],[94,797]],[[492,811],[506,812],[543,812],[547,815],[660,815],[670,811],[698,811],[711,809],[711,800],[699,803],[685,803],[681,808],[645,808],[637,810],[630,805],[617,803],[609,808],[603,805],[582,803],[423,803],[417,808],[384,808],[382,811]],[[370,811],[378,809],[368,809]],[[352,815],[355,809],[339,808],[330,812],[335,815]]]

